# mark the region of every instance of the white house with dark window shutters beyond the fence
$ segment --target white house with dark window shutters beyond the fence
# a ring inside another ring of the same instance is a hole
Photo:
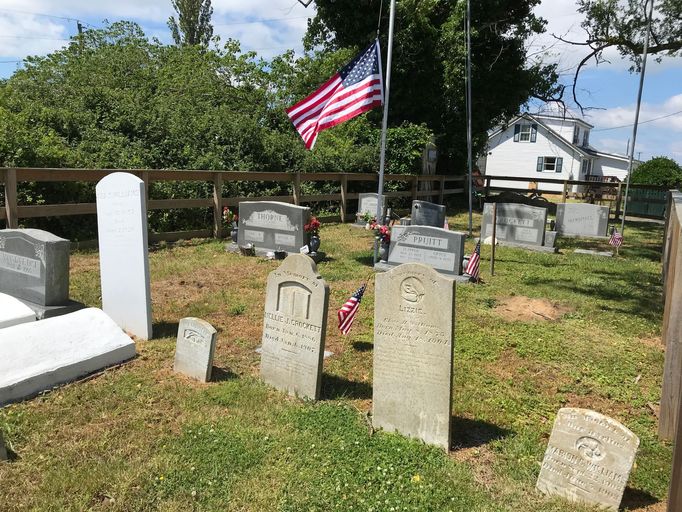
[[[593,126],[575,117],[520,114],[488,136],[486,154],[478,160],[486,176],[624,181],[628,157],[590,146]],[[639,163],[639,162],[636,162]],[[494,187],[526,189],[526,181],[491,180]],[[541,190],[560,192],[560,183],[542,183]],[[578,187],[572,191],[577,192]]]

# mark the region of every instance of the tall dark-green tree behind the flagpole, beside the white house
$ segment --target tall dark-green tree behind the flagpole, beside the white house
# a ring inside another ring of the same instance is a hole
[[[384,2],[386,3],[386,2]],[[529,62],[528,37],[544,30],[532,9],[539,0],[472,2],[474,148],[487,130],[511,118],[530,98],[559,97],[554,65]],[[381,0],[316,0],[305,43],[327,50],[352,48],[374,38]],[[437,136],[451,169],[466,161],[465,3],[403,0],[396,8],[389,123],[425,124]],[[388,14],[381,20],[386,47]],[[351,52],[352,53],[352,52]]]

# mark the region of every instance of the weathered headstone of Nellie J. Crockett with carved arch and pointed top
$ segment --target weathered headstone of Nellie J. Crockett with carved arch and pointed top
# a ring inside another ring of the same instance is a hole
[[[261,378],[277,389],[318,399],[327,330],[329,285],[315,262],[288,256],[268,275]]]

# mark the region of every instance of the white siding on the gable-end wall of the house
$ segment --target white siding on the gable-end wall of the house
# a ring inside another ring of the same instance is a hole
[[[521,123],[530,121],[522,120]],[[571,128],[572,130],[572,128]],[[581,156],[565,144],[555,144],[554,135],[548,136],[548,131],[538,125],[536,142],[514,142],[514,126],[491,137],[488,141],[488,155],[485,163],[487,176],[516,176],[527,178],[577,179],[580,174]],[[572,132],[571,132],[572,136]],[[563,158],[561,172],[537,172],[539,156],[553,156]],[[527,189],[529,182],[491,180],[494,187]],[[561,192],[563,185],[540,184],[542,190]]]

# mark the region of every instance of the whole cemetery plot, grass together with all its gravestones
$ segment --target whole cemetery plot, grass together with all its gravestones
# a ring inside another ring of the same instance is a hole
[[[579,253],[610,247],[592,205],[554,221],[497,203],[491,275],[488,204],[468,238],[461,208],[414,200],[375,264],[358,211],[322,224],[315,262],[313,212],[278,201],[239,202],[226,241],[150,245],[144,183],[99,182],[98,249],[0,230],[26,240],[0,250],[10,509],[674,510],[677,210],[595,258]],[[25,302],[51,294],[77,306]]]

